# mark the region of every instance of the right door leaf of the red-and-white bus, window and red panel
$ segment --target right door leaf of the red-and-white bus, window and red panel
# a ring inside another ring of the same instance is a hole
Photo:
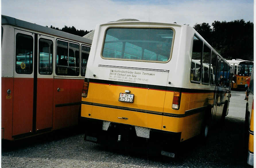
[[[53,127],[53,42],[54,38],[38,35],[36,131]]]

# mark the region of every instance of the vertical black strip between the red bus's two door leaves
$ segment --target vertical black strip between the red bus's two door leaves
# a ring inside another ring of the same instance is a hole
[[[33,90],[33,119],[32,132],[36,132],[36,101],[37,101],[37,34],[34,35],[34,90]]]

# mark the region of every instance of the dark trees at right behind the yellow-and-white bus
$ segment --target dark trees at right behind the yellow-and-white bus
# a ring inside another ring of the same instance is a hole
[[[195,24],[193,28],[224,58],[253,61],[253,23],[243,19]]]

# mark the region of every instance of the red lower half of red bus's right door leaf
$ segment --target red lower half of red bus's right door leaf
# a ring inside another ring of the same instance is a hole
[[[53,79],[37,79],[36,130],[53,127]]]

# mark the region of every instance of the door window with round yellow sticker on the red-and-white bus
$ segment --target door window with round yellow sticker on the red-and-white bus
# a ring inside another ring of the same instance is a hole
[[[16,73],[32,74],[33,72],[33,37],[16,34]]]

